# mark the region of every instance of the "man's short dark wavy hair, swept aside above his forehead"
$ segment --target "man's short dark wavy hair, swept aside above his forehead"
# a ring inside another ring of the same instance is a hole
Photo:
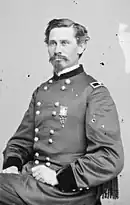
[[[62,18],[62,19],[53,19],[49,21],[48,26],[45,30],[45,40],[44,42],[48,44],[49,42],[49,35],[53,28],[61,28],[61,27],[72,27],[75,31],[75,38],[77,40],[77,44],[80,43],[87,43],[87,41],[90,39],[88,36],[87,29],[82,26],[81,24],[78,24],[70,19]],[[82,54],[79,55],[81,57]]]

